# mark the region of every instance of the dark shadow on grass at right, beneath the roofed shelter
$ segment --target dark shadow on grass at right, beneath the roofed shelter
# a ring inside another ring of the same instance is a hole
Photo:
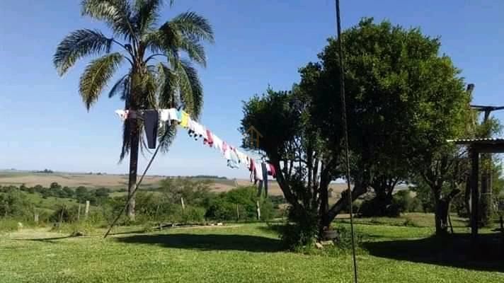
[[[481,234],[479,246],[471,246],[470,234],[456,234],[447,238],[367,242],[363,246],[370,255],[459,267],[468,270],[504,272],[504,247],[500,234]]]

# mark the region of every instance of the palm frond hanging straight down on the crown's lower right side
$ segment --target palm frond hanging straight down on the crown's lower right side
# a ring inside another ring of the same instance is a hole
[[[203,88],[197,76],[197,70],[188,60],[181,59],[177,73],[180,78],[181,100],[185,104],[186,110],[197,119],[203,104]]]

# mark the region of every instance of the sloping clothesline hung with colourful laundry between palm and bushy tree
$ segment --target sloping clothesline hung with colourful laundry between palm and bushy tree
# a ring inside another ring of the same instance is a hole
[[[129,110],[115,110],[115,113],[124,122],[133,112]],[[190,115],[184,110],[176,108],[160,109],[160,110],[142,110],[136,111],[135,117],[140,117],[144,120],[144,130],[147,136],[147,144],[149,148],[156,147],[156,139],[159,127],[166,127],[175,122],[184,129],[188,129],[188,134],[195,140],[203,139],[203,144],[210,148],[217,149],[222,156],[227,160],[227,166],[230,168],[240,168],[244,165],[250,171],[250,180],[254,184],[258,184],[258,193],[262,193],[262,187],[265,188],[265,195],[268,195],[268,175],[276,177],[276,169],[273,164],[268,162],[258,162],[244,152],[231,146],[226,141],[220,139],[207,127],[193,120]],[[138,115],[140,114],[140,115]]]

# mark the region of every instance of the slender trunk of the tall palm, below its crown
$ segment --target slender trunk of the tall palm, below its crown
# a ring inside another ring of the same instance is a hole
[[[137,117],[130,117],[130,178],[128,180],[127,193],[131,197],[130,203],[127,206],[127,216],[130,221],[134,221],[134,195],[132,195],[135,185],[137,184],[137,168],[138,168],[138,150],[139,150],[139,132],[137,125]]]

